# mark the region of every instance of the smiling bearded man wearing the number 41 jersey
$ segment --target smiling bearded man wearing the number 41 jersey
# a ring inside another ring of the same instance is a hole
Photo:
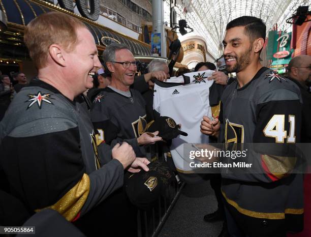
[[[299,142],[299,88],[260,64],[266,34],[261,19],[239,17],[226,29],[226,67],[237,80],[221,97],[221,123],[204,117],[201,131],[219,134],[225,143],[272,144],[252,151],[260,172],[222,172],[228,230],[232,236],[286,236],[303,223],[302,175],[289,173],[297,160],[282,152]],[[281,143],[283,149],[275,150]]]

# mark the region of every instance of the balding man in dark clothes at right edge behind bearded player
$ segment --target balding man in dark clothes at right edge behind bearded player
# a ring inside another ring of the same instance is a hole
[[[307,82],[311,81],[311,56],[299,55],[288,65],[288,78],[295,82],[302,96],[301,142],[311,142],[311,94]]]

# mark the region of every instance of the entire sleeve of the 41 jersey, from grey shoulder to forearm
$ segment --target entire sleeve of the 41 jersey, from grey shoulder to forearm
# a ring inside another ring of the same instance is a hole
[[[248,121],[255,124],[253,143],[245,143],[243,150],[247,147],[246,161],[253,166],[246,172],[234,169],[230,174],[222,175],[245,182],[278,181],[289,176],[300,165],[295,146],[300,141],[300,92],[291,87],[275,88],[260,92],[260,96],[250,103],[254,104],[255,110],[253,121]],[[224,127],[221,134],[225,133]]]

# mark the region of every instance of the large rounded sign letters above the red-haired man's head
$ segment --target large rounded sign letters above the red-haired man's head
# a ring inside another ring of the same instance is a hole
[[[47,2],[54,4],[52,0]],[[61,8],[64,8],[70,12],[74,12],[73,0],[57,0],[57,2]],[[76,5],[81,16],[86,17],[92,21],[96,21],[99,18],[99,0],[76,0]]]

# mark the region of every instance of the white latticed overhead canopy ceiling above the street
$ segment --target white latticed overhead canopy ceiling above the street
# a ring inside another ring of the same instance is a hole
[[[166,0],[165,20],[168,22],[169,4]],[[185,19],[194,28],[191,34],[205,38],[208,51],[218,57],[229,21],[245,15],[256,16],[265,22],[267,33],[275,23],[278,29],[291,31],[291,24],[286,23],[286,19],[299,6],[310,6],[311,0],[177,0],[176,4],[177,22]]]

